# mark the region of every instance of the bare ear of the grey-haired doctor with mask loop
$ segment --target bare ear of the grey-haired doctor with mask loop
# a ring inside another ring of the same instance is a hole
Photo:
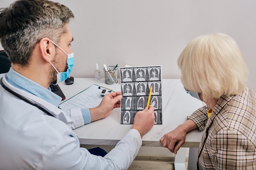
[[[50,38],[44,37],[39,42],[39,48],[43,59],[46,62],[50,62],[55,56],[55,46],[51,43]]]

